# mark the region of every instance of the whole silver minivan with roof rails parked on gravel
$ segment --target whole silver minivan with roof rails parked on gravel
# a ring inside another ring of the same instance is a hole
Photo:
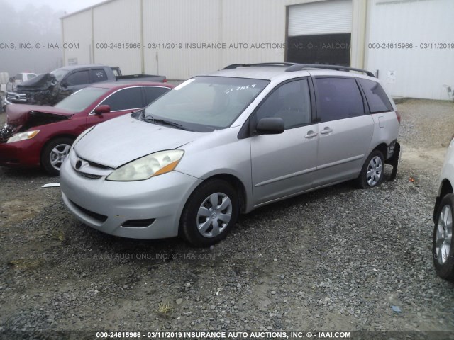
[[[102,232],[206,246],[239,213],[352,179],[377,186],[385,164],[394,178],[399,120],[370,72],[235,64],[82,133],[62,198]]]

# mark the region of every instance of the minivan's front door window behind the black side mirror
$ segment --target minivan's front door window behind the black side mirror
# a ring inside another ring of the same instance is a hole
[[[311,97],[306,79],[279,86],[265,99],[256,119],[270,117],[282,118],[286,130],[311,123]]]

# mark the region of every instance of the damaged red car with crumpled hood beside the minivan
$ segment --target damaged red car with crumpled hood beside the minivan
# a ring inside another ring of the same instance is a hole
[[[100,83],[55,106],[11,104],[0,130],[0,165],[41,166],[57,175],[77,136],[92,125],[144,108],[172,89],[152,82]]]

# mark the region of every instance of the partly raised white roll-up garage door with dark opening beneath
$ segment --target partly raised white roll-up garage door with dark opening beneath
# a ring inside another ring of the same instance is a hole
[[[287,62],[350,64],[352,1],[318,1],[288,7]]]

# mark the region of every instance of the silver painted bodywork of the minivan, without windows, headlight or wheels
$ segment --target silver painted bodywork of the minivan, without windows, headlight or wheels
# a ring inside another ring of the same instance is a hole
[[[283,72],[282,67],[239,67],[211,76],[267,79],[270,83],[230,127],[221,130],[184,131],[130,116],[96,125],[74,143],[69,160],[62,165],[60,181],[67,208],[85,224],[108,234],[139,239],[175,237],[189,196],[214,176],[234,182],[243,198],[241,212],[250,212],[355,179],[379,146],[389,151],[387,158],[392,156],[399,123],[391,98],[392,112],[311,123],[279,135],[238,137],[259,104],[284,81],[311,81],[318,76],[377,81],[375,78],[319,69]],[[123,164],[170,149],[184,151],[174,171],[145,181],[105,180]],[[76,170],[79,161],[82,165]],[[124,226],[126,221],[141,219],[150,219],[150,225]]]

